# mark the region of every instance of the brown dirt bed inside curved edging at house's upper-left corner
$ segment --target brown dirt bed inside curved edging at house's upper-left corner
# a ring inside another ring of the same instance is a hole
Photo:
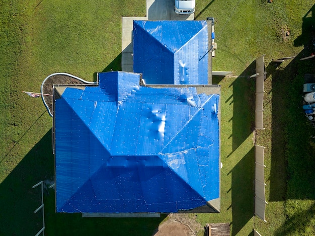
[[[53,75],[49,77],[43,85],[43,94],[52,94],[53,85],[83,85],[82,81],[72,78],[68,75]],[[49,107],[50,113],[52,114],[52,97],[44,96],[44,100]]]

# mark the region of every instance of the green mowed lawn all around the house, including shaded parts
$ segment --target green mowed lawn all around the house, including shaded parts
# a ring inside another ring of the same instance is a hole
[[[197,214],[203,225],[231,223],[232,235],[312,235],[315,218],[312,128],[301,112],[303,73],[313,62],[298,59],[280,66],[272,59],[302,57],[303,17],[312,1],[197,0],[196,20],[215,18],[218,49],[213,70],[221,96],[221,213]],[[52,180],[51,117],[39,92],[44,78],[68,72],[95,80],[96,72],[120,70],[122,16],[144,16],[145,1],[0,2],[0,235],[35,235],[42,227],[40,189]],[[315,15],[315,10],[313,12]],[[307,21],[312,21],[311,17]],[[307,23],[309,24],[309,23]],[[304,19],[305,25],[305,19]],[[290,36],[283,32],[289,30]],[[298,41],[300,42],[300,41]],[[254,127],[252,63],[266,54],[265,128]],[[285,99],[288,98],[288,99]],[[266,146],[267,223],[254,213],[254,141]],[[301,163],[302,162],[302,163]],[[193,216],[193,215],[192,215]],[[45,191],[47,235],[151,235],[165,219],[86,219],[54,213],[54,192]],[[202,230],[199,232],[203,235]]]

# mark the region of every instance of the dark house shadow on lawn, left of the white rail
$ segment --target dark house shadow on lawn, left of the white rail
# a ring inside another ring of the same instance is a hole
[[[40,187],[54,175],[51,129],[0,184],[0,235],[35,235],[42,228]],[[53,196],[52,196],[53,197]]]

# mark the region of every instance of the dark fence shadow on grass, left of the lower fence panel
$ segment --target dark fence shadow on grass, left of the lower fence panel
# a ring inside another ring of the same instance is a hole
[[[231,170],[232,235],[237,235],[254,214],[254,147]],[[229,173],[229,174],[230,174]]]

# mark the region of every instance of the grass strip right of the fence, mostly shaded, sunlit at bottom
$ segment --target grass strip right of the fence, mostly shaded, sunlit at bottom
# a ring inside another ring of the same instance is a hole
[[[257,139],[271,145],[265,155],[267,180],[267,224],[257,222],[260,232],[273,235],[312,235],[315,233],[313,203],[315,172],[314,132],[302,110],[304,73],[314,72],[314,61],[299,61],[302,50],[294,60],[280,66],[270,63],[265,111],[269,117],[267,134],[259,132]],[[310,53],[310,52],[309,52]],[[271,87],[272,86],[272,87]],[[266,115],[265,112],[265,115]],[[270,175],[269,175],[270,174]],[[282,216],[282,217],[280,217]],[[273,230],[272,230],[273,229]],[[276,230],[274,230],[276,229]]]

